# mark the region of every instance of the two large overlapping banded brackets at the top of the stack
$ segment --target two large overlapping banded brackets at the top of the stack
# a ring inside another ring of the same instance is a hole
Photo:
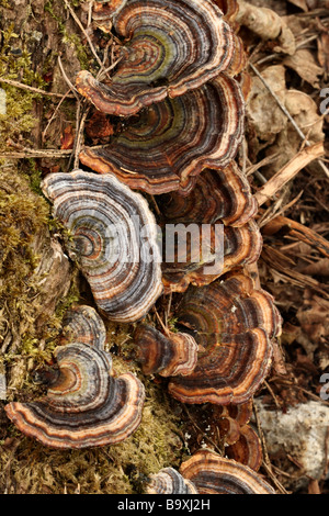
[[[241,142],[242,47],[213,0],[128,0],[113,26],[122,44],[111,82],[82,70],[76,83],[125,127],[86,146],[80,160],[133,189],[186,195],[205,168],[229,165]]]

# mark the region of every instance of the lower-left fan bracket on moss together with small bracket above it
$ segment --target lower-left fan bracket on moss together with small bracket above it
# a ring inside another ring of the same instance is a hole
[[[113,377],[112,358],[103,349],[103,339],[95,335],[90,344],[83,341],[89,326],[89,322],[81,324],[86,307],[76,313],[72,334],[77,341],[56,348],[58,369],[47,371],[46,396],[31,403],[12,402],[4,407],[23,434],[50,448],[121,442],[136,430],[141,419],[143,383],[131,372]],[[97,319],[103,335],[103,322],[98,314],[93,314],[92,326]]]

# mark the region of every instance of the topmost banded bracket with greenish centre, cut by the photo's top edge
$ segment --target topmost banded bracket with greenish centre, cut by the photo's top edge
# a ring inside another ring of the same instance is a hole
[[[229,68],[235,34],[213,0],[128,0],[113,18],[121,59],[109,85],[86,70],[77,89],[98,110],[128,116],[200,88]]]

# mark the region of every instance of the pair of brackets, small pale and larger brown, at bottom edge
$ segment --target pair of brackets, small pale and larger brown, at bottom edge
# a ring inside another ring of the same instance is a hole
[[[211,450],[194,453],[181,464],[179,472],[159,471],[150,478],[146,491],[148,494],[275,494],[250,468]]]

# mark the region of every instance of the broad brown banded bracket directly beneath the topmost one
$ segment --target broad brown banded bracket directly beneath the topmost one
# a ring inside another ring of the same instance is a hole
[[[127,120],[109,145],[84,147],[80,160],[133,189],[188,195],[204,169],[225,168],[236,156],[243,113],[239,83],[223,74],[182,97],[152,104]]]

